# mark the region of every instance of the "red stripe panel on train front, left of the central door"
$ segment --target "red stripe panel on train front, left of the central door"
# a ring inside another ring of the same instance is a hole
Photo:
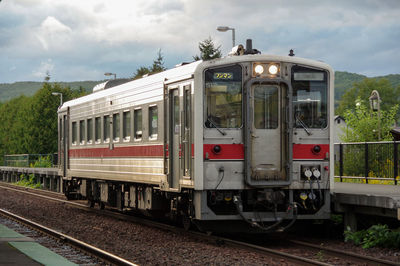
[[[216,152],[215,146],[220,147],[220,151]],[[244,146],[243,144],[204,144],[203,158],[210,160],[243,160]]]

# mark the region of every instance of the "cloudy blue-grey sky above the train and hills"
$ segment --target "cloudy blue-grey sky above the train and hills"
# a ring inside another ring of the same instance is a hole
[[[1,0],[0,0],[1,1]],[[400,73],[399,0],[2,0],[0,83],[131,77],[162,50],[192,61],[209,36],[227,54],[253,39],[263,54],[322,60],[335,70]]]

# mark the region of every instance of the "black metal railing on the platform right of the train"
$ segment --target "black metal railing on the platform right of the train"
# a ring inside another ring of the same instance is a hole
[[[400,141],[335,143],[335,180],[397,185]]]

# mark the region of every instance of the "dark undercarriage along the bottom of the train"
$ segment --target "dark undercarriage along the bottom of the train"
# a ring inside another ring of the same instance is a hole
[[[329,218],[329,190],[285,188],[166,192],[140,183],[92,179],[65,180],[68,199],[86,199],[121,212],[165,218],[201,231],[272,232],[297,219]],[[196,209],[197,212],[196,212]]]

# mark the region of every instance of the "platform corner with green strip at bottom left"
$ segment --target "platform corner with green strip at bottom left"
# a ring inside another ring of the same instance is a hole
[[[0,224],[0,265],[76,265]]]

